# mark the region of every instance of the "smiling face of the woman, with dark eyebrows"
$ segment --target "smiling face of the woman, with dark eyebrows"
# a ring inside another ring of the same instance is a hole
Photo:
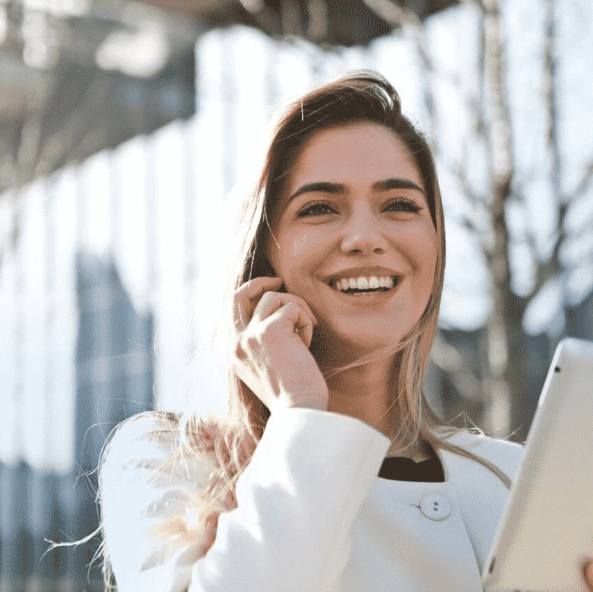
[[[358,357],[400,341],[424,312],[437,234],[424,182],[391,130],[320,130],[287,177],[267,255],[318,321],[314,344]]]

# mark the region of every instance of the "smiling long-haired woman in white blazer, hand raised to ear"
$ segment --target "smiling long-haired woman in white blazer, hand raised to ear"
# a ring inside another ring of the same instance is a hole
[[[287,109],[244,204],[225,421],[141,414],[104,451],[119,592],[482,590],[522,448],[421,392],[443,284],[435,166],[356,74]]]

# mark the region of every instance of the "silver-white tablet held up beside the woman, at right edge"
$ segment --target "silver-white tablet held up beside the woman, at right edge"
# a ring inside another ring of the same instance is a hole
[[[487,590],[589,592],[593,558],[593,341],[554,354],[484,564]]]

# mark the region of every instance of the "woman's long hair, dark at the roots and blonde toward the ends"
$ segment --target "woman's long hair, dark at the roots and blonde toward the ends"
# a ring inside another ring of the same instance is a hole
[[[428,405],[421,389],[437,331],[437,316],[444,280],[444,214],[431,150],[424,137],[402,115],[399,96],[383,76],[364,71],[322,85],[290,104],[278,120],[256,189],[244,200],[237,221],[235,237],[239,245],[236,259],[228,273],[226,291],[228,322],[232,322],[233,293],[240,285],[252,278],[275,276],[266,256],[267,241],[270,237],[269,220],[272,219],[276,200],[282,194],[287,174],[298,158],[303,143],[318,130],[360,121],[370,121],[392,130],[415,159],[424,179],[439,248],[431,298],[415,327],[399,344],[375,352],[351,366],[365,364],[378,357],[393,357],[392,405],[395,407],[395,416],[400,418],[396,436],[392,441],[394,450],[404,450],[422,439],[435,449],[449,450],[451,453],[474,459],[495,473],[506,487],[510,487],[508,476],[494,464],[447,441],[451,435],[459,432],[460,428],[446,425]],[[344,368],[333,369],[332,373],[342,370]],[[253,451],[262,437],[269,410],[229,369],[227,414],[224,419],[201,418],[192,411],[183,412],[178,416],[164,412],[149,413],[158,414],[165,420],[162,424],[165,428],[160,431],[169,431],[174,435],[179,454],[207,454],[214,460],[217,468],[210,477],[206,491],[203,492],[202,498],[206,500],[206,505],[200,516],[202,529],[211,530],[222,511],[233,509],[237,505],[237,479],[249,464]],[[99,462],[99,501],[101,466],[107,451],[108,444],[103,447]],[[90,540],[97,532],[103,532],[102,525],[83,540]],[[97,557],[101,555],[106,588],[112,588],[112,571],[104,539],[97,552]]]

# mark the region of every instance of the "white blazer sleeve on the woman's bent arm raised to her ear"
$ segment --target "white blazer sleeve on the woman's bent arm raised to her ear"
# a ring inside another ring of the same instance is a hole
[[[390,441],[349,416],[292,408],[267,423],[215,539],[192,530],[214,466],[162,470],[171,443],[130,423],[103,462],[106,555],[119,592],[324,592],[349,558],[351,525]]]

